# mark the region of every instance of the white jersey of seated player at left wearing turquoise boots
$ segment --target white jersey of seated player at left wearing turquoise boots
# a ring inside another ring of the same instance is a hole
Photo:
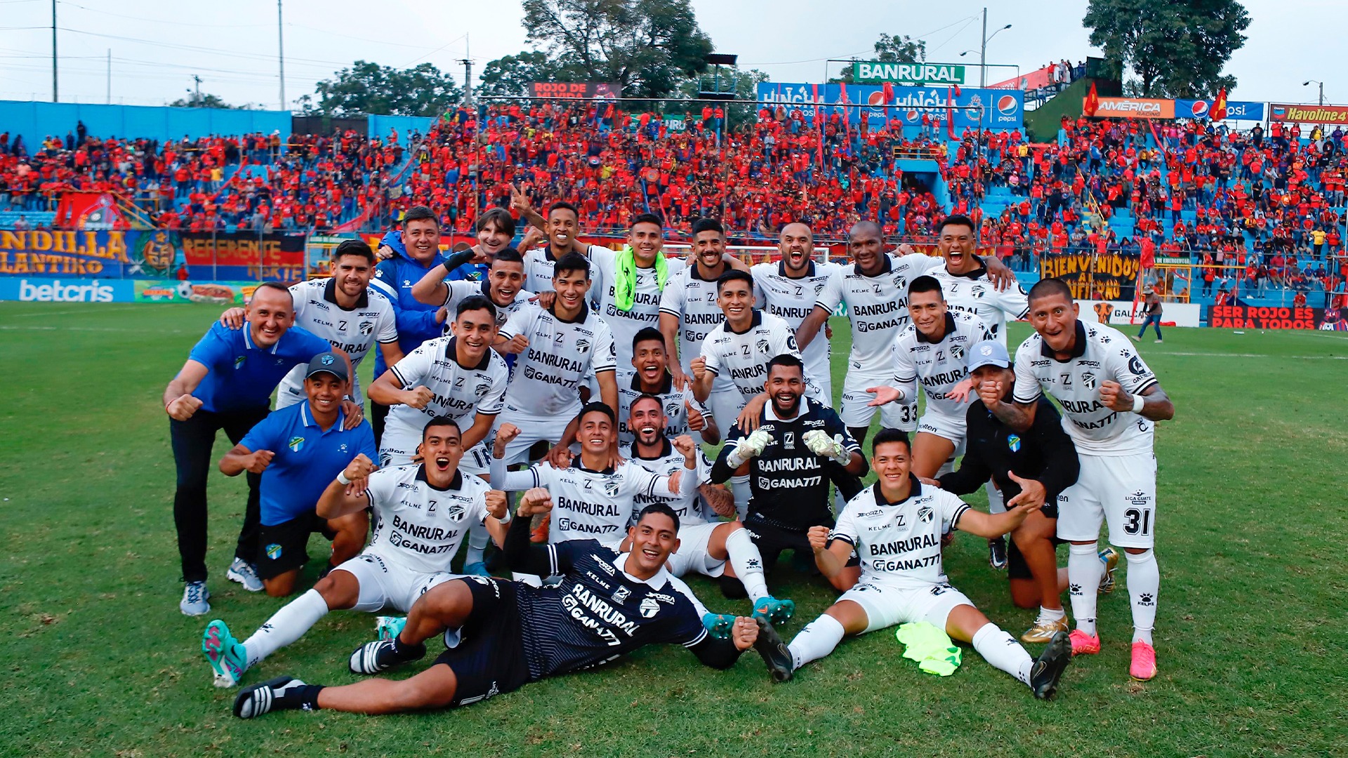
[[[379,469],[365,490],[376,517],[365,552],[418,573],[449,571],[468,529],[487,519],[489,490],[462,472],[446,490],[437,490],[421,465]]]

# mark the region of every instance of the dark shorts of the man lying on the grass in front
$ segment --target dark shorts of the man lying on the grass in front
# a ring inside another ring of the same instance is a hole
[[[450,708],[514,692],[531,681],[515,583],[484,576],[462,581],[473,593],[473,612],[458,631],[458,645],[435,658],[458,680]]]

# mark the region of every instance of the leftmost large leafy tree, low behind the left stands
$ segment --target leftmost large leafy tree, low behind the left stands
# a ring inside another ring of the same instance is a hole
[[[356,61],[314,90],[318,104],[306,104],[306,109],[322,116],[439,116],[462,96],[458,82],[431,63],[398,70],[368,61]]]

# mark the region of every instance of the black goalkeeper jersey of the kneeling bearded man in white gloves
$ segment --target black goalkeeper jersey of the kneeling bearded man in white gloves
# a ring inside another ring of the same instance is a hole
[[[795,418],[780,419],[768,402],[759,415],[759,428],[772,437],[772,442],[763,448],[763,455],[749,460],[749,518],[801,531],[811,526],[833,526],[830,477],[856,477],[836,463],[811,453],[805,446],[803,436],[811,429],[820,429],[829,437],[841,434],[848,450],[860,452],[861,446],[848,434],[838,414],[802,397]],[[735,452],[735,442],[747,436],[737,425],[731,428],[712,467],[712,482],[721,483],[733,476],[728,459]],[[852,496],[860,486],[848,488],[840,483],[840,488],[844,495]]]

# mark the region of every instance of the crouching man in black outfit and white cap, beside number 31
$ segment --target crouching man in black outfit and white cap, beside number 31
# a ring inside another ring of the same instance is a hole
[[[909,308],[913,308],[911,302]],[[971,345],[965,366],[975,387],[1000,382],[1003,392],[1015,383],[1011,356],[996,340]],[[976,397],[976,395],[975,395]],[[1014,504],[1030,499],[1043,508],[1031,511],[1011,530],[1007,579],[1011,600],[1018,608],[1039,608],[1034,626],[1020,642],[1049,642],[1068,631],[1062,611],[1061,583],[1054,533],[1058,525],[1058,494],[1077,480],[1077,449],[1062,430],[1062,418],[1047,398],[1041,397],[1034,426],[1012,432],[992,415],[981,401],[965,410],[965,452],[958,471],[941,475],[938,486],[954,495],[968,495],[991,476]],[[929,482],[929,480],[923,480]],[[1117,561],[1117,556],[1113,557]]]

